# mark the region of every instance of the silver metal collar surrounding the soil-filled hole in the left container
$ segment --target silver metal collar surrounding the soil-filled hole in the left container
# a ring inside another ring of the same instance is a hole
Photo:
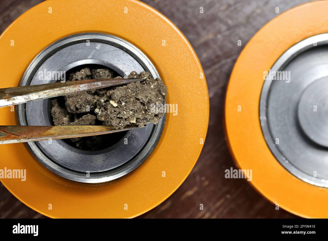
[[[56,82],[40,80],[39,71],[68,71],[85,64],[103,65],[121,76],[146,70],[154,78],[159,77],[150,60],[130,43],[107,34],[84,33],[63,38],[43,50],[26,70],[21,86]],[[17,115],[20,125],[51,125],[50,101],[18,105]],[[116,144],[100,151],[79,150],[63,140],[52,140],[51,144],[28,142],[28,146],[44,166],[62,177],[78,182],[107,182],[134,170],[150,155],[164,123],[165,117],[157,125],[128,131]],[[124,145],[125,138],[128,145]]]

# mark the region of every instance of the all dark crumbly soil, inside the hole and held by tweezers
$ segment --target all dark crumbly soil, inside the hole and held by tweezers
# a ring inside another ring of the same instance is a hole
[[[109,69],[88,67],[71,73],[69,80],[113,78]],[[117,76],[115,78],[122,78]],[[128,78],[144,78],[144,81],[118,87],[59,96],[51,101],[51,117],[54,125],[111,125],[123,129],[126,125],[142,127],[148,123],[157,124],[164,113],[151,111],[152,104],[165,104],[167,89],[159,79],[153,79],[148,72],[138,74],[133,71]],[[101,150],[111,145],[114,135],[70,138],[73,146],[83,150]],[[66,139],[67,140],[67,139]],[[114,143],[112,143],[114,144]]]

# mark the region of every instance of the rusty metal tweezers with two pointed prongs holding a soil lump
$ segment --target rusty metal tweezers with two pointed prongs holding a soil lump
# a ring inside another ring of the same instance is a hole
[[[142,80],[144,79],[91,79],[3,88],[0,89],[0,107],[87,90],[125,85]],[[0,126],[0,144],[101,135],[135,128],[137,127],[133,125],[119,130],[113,126]]]

